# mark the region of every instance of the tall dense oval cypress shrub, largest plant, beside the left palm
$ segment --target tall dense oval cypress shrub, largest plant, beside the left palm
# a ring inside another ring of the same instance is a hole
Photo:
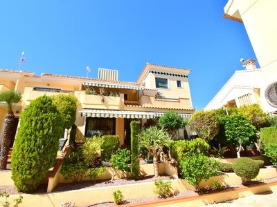
[[[53,164],[62,136],[60,112],[50,97],[38,97],[22,113],[12,150],[12,179],[17,190],[31,193]]]

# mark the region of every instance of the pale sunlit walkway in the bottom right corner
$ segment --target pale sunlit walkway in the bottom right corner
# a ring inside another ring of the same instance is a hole
[[[242,207],[256,207],[256,206],[277,206],[277,191],[269,191],[265,193],[259,193],[256,195],[250,195],[247,197],[242,197],[232,201],[226,201],[225,203],[212,204],[208,206],[242,206]]]

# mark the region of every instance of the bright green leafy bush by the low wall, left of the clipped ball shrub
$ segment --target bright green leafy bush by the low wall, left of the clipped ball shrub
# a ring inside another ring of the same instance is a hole
[[[218,175],[218,162],[203,154],[187,155],[180,164],[181,175],[188,183],[199,186],[202,179]]]

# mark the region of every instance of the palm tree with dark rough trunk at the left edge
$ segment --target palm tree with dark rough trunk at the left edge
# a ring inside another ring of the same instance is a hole
[[[8,108],[0,150],[0,170],[6,170],[8,150],[10,148],[10,141],[12,139],[13,126],[15,122],[15,115],[13,114],[12,109],[15,107],[15,103],[18,103],[20,99],[21,93],[15,90],[0,92],[0,101],[4,102]]]

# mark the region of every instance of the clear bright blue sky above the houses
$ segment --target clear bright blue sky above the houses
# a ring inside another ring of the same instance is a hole
[[[146,62],[190,68],[193,106],[204,108],[240,58],[256,56],[242,23],[222,17],[227,0],[0,2],[0,68],[136,81]],[[19,68],[21,52],[27,62]]]

